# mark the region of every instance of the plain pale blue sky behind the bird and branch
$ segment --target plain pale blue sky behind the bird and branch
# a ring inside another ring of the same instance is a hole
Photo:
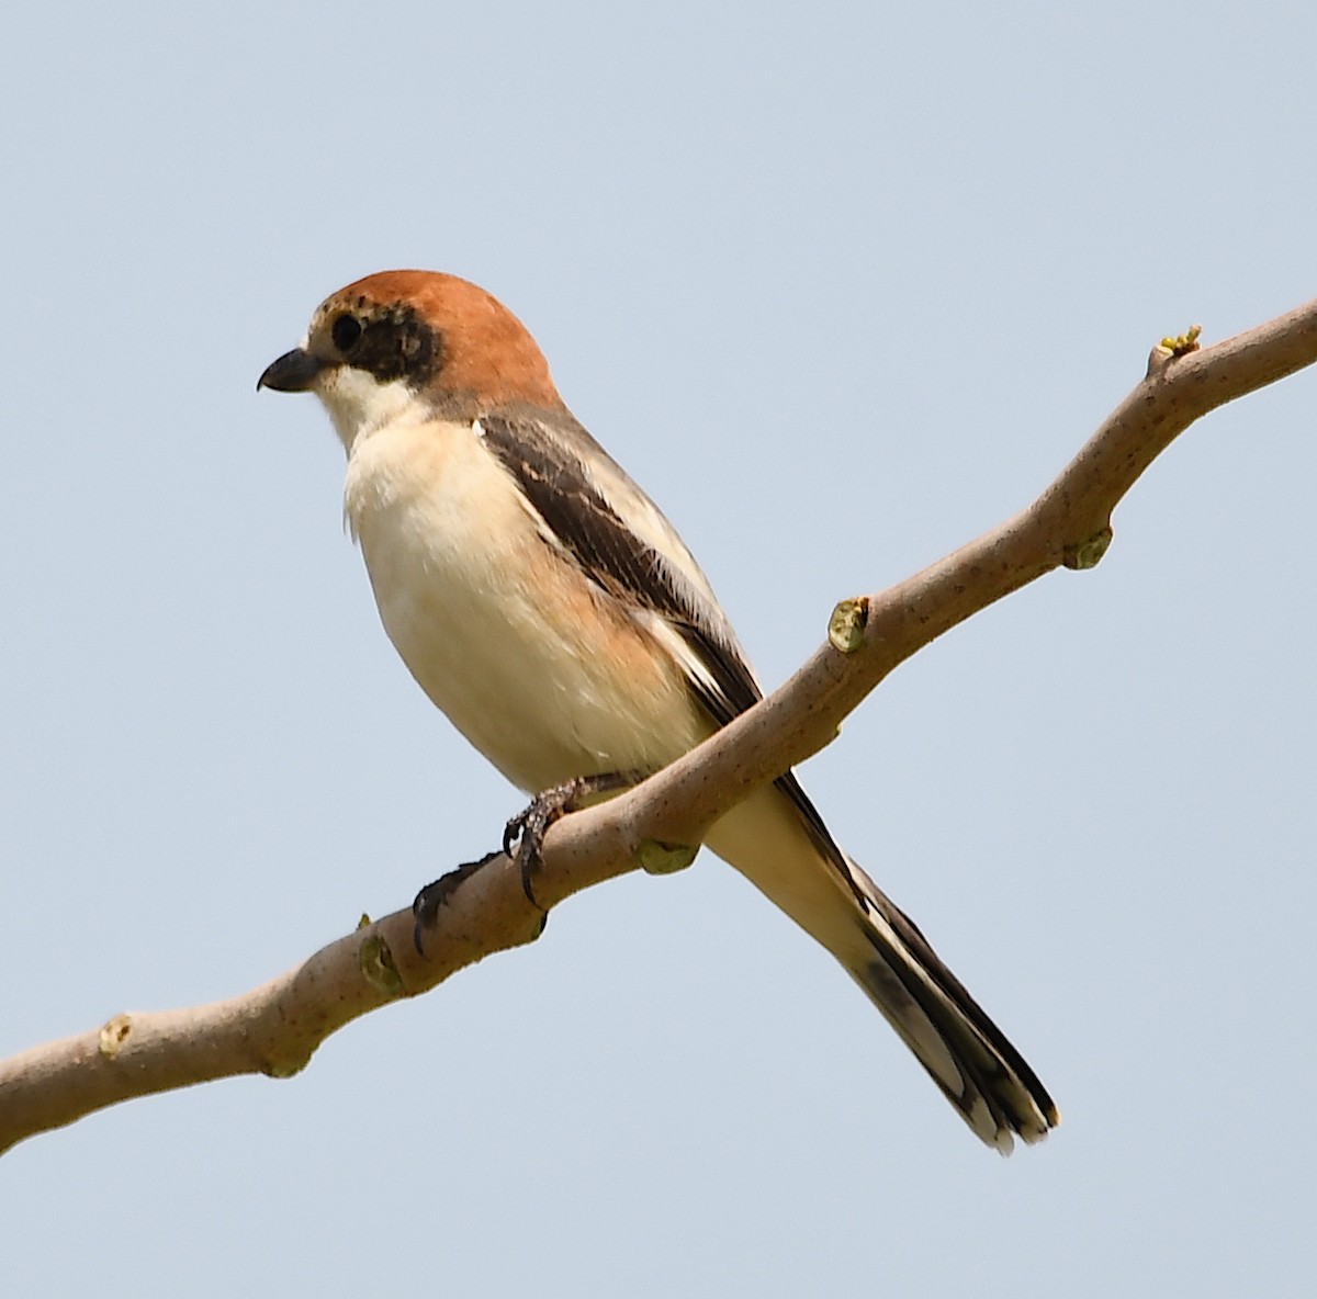
[[[0,46],[0,1053],[241,991],[519,796],[381,632],[315,403],[387,266],[487,286],[770,684],[1026,503],[1164,333],[1317,287],[1308,5],[33,7]],[[711,858],[0,1161],[0,1288],[1317,1288],[1317,375],[1218,412],[803,771],[1064,1125],[967,1133]]]

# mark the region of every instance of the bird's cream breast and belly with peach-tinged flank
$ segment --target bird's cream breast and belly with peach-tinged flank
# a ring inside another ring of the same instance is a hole
[[[710,729],[652,615],[556,545],[473,425],[360,438],[344,508],[403,662],[514,783],[657,769]]]

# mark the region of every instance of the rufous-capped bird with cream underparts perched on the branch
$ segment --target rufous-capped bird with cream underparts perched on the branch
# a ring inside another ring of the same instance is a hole
[[[657,771],[761,698],[690,550],[491,293],[439,271],[367,275],[320,304],[261,388],[325,407],[389,638],[519,788]],[[794,773],[738,803],[705,846],[840,962],[988,1146],[1009,1154],[1060,1121]]]

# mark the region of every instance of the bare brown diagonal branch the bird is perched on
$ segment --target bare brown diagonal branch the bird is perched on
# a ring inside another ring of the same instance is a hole
[[[1317,361],[1317,301],[1192,347],[1187,336],[1154,349],[1147,378],[1029,508],[889,591],[843,601],[830,642],[781,690],[637,788],[553,825],[540,902],[552,908],[636,869],[653,859],[655,844],[699,842],[751,790],[828,744],[860,700],[930,641],[1052,569],[1101,559],[1117,504],[1180,433]],[[533,941],[543,921],[516,867],[498,857],[453,892],[425,955],[412,945],[411,911],[399,911],[228,1002],[120,1015],[24,1052],[0,1063],[0,1152],[132,1096],[234,1074],[286,1078],[344,1024]]]

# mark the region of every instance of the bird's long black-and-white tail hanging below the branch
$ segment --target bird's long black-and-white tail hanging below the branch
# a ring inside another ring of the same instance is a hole
[[[817,938],[984,1142],[1009,1154],[1060,1116],[1005,1033],[918,927],[834,844],[794,778],[751,795],[707,845]]]

